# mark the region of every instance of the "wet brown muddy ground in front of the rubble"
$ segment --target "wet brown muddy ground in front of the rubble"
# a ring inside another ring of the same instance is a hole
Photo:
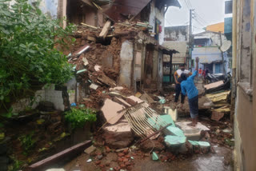
[[[226,147],[214,146],[216,153],[194,154],[193,157],[170,162],[152,161],[151,157],[138,158],[134,157],[134,171],[229,171],[232,167],[232,149]],[[81,171],[100,171],[100,166],[94,162],[87,163],[89,155],[82,154],[65,166],[66,171],[78,170],[75,165],[79,165]],[[111,158],[110,158],[111,160]],[[114,167],[114,165],[110,165]],[[109,170],[109,169],[103,169]]]

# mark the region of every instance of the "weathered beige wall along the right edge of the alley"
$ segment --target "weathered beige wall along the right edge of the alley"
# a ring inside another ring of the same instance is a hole
[[[255,170],[256,149],[256,2],[238,0],[237,10],[237,89],[234,112],[235,168]]]

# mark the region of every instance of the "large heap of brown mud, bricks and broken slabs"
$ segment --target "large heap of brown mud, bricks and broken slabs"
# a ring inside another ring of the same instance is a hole
[[[150,153],[153,160],[173,161],[180,154],[214,151],[210,143],[221,141],[214,137],[214,130],[200,123],[191,128],[184,121],[178,122],[177,110],[168,106],[172,103],[170,97],[161,97],[161,92],[154,90],[154,95],[152,90],[146,93],[146,89],[134,93],[126,85],[118,85],[122,42],[141,33],[150,34],[145,23],[111,26],[106,22],[102,30],[85,27],[75,33],[77,42],[69,55],[77,82],[73,101],[69,95],[70,103],[97,109],[99,113],[101,128],[94,137],[98,149],[86,149],[90,154],[88,162],[94,161],[102,169],[131,170],[139,155]],[[205,99],[210,97],[202,97],[203,104]],[[164,106],[166,102],[169,103]],[[113,161],[109,161],[110,156]]]

